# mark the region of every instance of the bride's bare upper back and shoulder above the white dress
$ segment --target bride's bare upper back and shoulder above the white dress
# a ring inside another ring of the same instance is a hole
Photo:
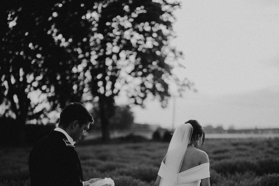
[[[204,151],[201,151],[194,146],[189,145],[185,152],[179,172],[186,171],[207,162],[209,162],[208,155]]]

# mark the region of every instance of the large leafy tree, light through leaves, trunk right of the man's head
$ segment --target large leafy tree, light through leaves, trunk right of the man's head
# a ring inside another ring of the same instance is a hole
[[[169,44],[177,2],[36,2],[36,6],[14,8],[8,15],[10,22],[17,20],[16,25],[10,23],[2,47],[5,58],[0,76],[6,83],[1,85],[5,87],[1,100],[7,98],[10,108],[14,104],[13,112],[19,113],[15,108],[21,106],[14,95],[26,99],[26,111],[28,91],[36,89],[47,94],[49,110],[71,101],[94,102],[103,139],[109,140],[109,121],[119,92],[126,92],[127,104],[143,105],[151,94],[166,106],[170,83],[178,91],[189,86],[171,73],[179,67],[176,58],[181,55]],[[20,86],[24,91],[18,96]]]

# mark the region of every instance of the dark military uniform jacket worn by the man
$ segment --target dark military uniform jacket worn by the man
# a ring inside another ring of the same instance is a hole
[[[29,155],[31,186],[83,186],[75,147],[59,131],[37,142]]]

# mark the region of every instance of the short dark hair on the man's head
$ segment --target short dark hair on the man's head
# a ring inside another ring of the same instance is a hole
[[[90,112],[81,103],[70,103],[60,113],[58,126],[67,128],[71,122],[78,121],[80,127],[87,122],[94,122]]]

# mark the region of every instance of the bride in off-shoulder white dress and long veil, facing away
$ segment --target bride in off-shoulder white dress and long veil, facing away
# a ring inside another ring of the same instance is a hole
[[[208,155],[198,149],[204,138],[204,129],[196,120],[176,128],[155,186],[210,186]]]

